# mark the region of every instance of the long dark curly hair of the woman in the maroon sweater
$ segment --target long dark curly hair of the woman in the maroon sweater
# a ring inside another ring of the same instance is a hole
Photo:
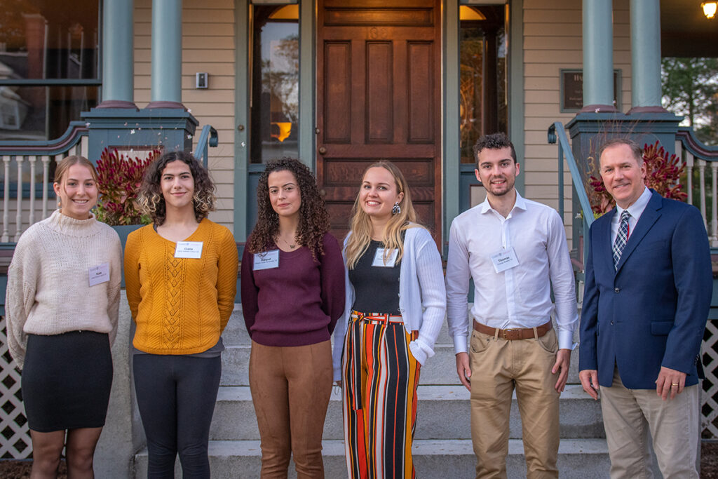
[[[247,243],[250,253],[266,251],[274,244],[279,233],[279,215],[276,214],[269,200],[269,174],[272,172],[289,171],[297,179],[302,205],[299,206],[299,226],[294,240],[312,251],[316,260],[324,254],[322,241],[329,231],[329,213],[324,200],[317,189],[317,180],[306,164],[294,158],[275,159],[266,164],[257,185],[257,223]]]

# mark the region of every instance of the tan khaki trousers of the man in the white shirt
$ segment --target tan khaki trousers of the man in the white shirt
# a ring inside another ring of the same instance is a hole
[[[554,386],[556,331],[541,338],[507,341],[472,332],[471,438],[476,477],[505,478],[508,419],[516,386],[528,478],[557,478],[559,393]]]

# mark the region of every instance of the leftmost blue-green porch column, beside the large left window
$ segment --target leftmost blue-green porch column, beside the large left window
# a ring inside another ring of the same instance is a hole
[[[102,14],[102,103],[98,108],[134,108],[134,0],[105,0]]]

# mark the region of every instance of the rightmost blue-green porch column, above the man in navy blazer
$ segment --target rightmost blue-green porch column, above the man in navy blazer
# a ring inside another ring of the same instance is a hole
[[[661,6],[630,0],[631,98],[629,113],[664,112],[661,107]]]

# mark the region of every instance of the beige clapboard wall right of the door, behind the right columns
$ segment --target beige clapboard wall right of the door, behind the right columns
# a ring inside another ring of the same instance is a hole
[[[628,3],[613,1],[613,68],[621,70],[623,111],[630,109]],[[526,196],[558,209],[558,147],[546,142],[546,130],[554,121],[567,124],[575,114],[560,112],[559,70],[583,68],[581,1],[524,0],[523,9]],[[564,222],[570,225],[571,177],[565,162],[564,171]]]

